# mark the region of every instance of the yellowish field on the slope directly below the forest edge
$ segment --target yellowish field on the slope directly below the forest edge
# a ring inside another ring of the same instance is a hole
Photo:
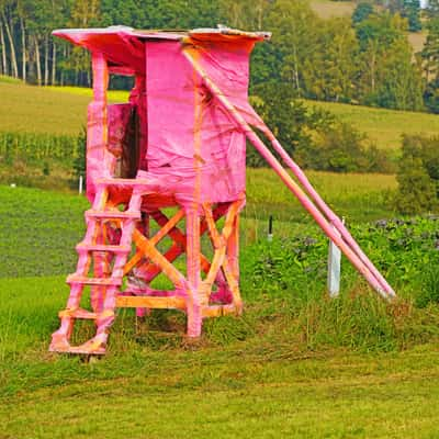
[[[77,135],[86,123],[91,90],[0,81],[0,131]],[[126,99],[124,91],[110,92],[112,102]],[[439,132],[439,116],[434,114],[317,101],[306,101],[306,104],[331,111],[384,149],[397,148],[403,133],[435,135]]]

